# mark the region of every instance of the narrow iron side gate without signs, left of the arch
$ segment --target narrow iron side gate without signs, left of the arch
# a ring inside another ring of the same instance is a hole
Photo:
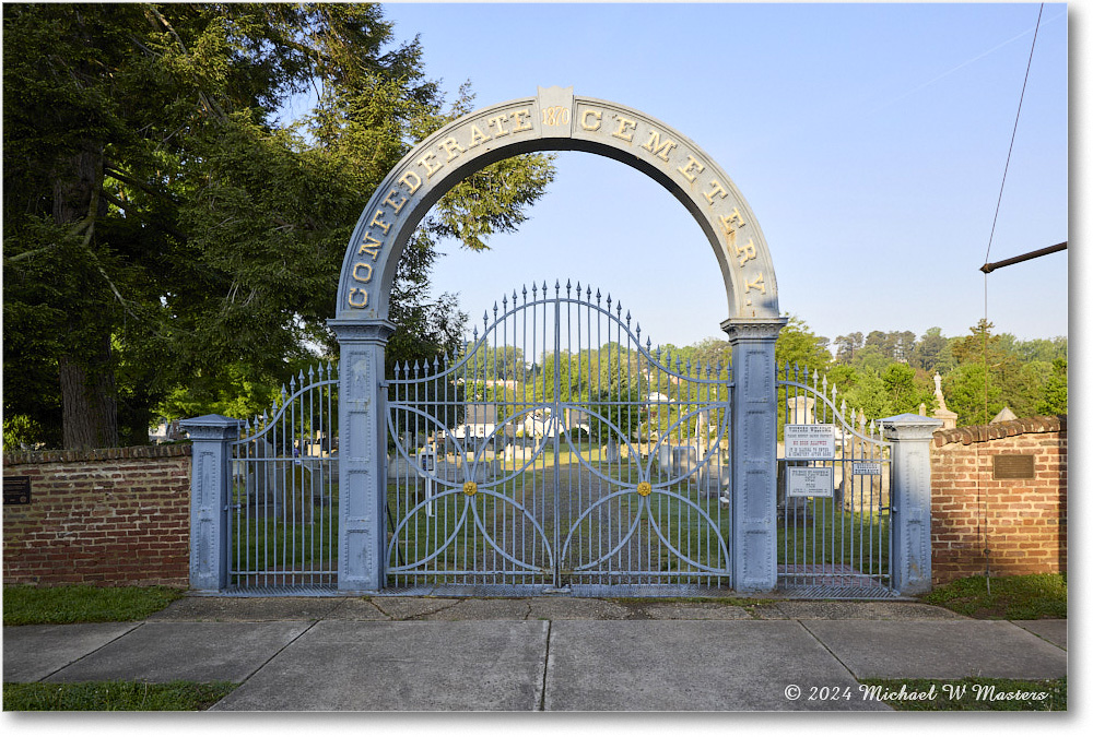
[[[303,371],[232,443],[228,586],[321,593],[338,583],[338,379]]]

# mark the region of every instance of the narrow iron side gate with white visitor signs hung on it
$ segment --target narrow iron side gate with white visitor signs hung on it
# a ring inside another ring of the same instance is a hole
[[[778,585],[808,598],[886,598],[892,582],[891,443],[827,378],[778,379]]]

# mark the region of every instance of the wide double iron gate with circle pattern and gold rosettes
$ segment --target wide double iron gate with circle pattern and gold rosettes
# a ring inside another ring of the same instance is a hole
[[[514,292],[459,356],[396,368],[389,587],[730,584],[728,367],[654,352],[610,296],[562,289]]]

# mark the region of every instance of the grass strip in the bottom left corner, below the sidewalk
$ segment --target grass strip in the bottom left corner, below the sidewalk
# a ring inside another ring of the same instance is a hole
[[[193,712],[204,711],[237,683],[96,681],[4,683],[5,712]]]

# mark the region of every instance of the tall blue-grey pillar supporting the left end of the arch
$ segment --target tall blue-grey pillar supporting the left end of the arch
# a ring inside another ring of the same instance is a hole
[[[338,336],[338,589],[384,587],[387,563],[387,320],[328,320]]]

